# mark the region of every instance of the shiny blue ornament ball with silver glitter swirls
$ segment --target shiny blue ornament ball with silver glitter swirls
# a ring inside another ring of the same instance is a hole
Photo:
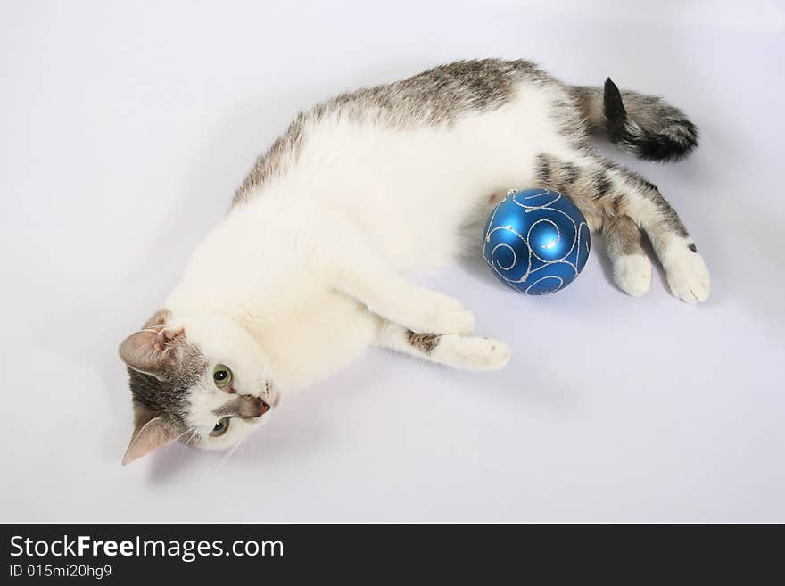
[[[509,192],[483,233],[483,256],[493,274],[527,295],[564,289],[580,275],[590,248],[581,210],[549,189]]]

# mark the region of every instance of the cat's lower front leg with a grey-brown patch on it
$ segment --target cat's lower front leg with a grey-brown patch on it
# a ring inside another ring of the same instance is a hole
[[[508,347],[495,340],[461,334],[424,334],[383,320],[376,346],[459,370],[498,370],[509,360]]]

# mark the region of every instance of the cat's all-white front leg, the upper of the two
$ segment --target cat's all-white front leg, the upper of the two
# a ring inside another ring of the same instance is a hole
[[[361,230],[342,219],[335,222],[340,222],[340,229],[318,258],[337,291],[417,333],[468,334],[474,330],[475,316],[460,301],[410,281]]]

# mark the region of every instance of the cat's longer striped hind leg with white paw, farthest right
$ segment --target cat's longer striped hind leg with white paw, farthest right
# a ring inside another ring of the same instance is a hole
[[[657,186],[590,152],[569,161],[541,154],[536,175],[541,186],[569,194],[587,217],[631,218],[649,235],[671,293],[690,304],[706,301],[711,290],[706,263]]]

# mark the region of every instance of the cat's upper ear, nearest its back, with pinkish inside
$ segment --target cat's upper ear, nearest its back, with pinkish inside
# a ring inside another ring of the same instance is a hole
[[[164,381],[175,366],[185,338],[182,328],[155,326],[129,335],[118,352],[128,367]]]

